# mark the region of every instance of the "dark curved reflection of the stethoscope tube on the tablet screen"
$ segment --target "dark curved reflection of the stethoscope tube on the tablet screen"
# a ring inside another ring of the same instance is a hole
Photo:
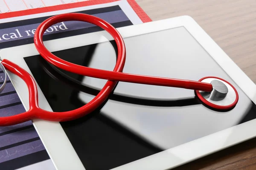
[[[55,66],[49,64],[44,59],[39,59],[39,63],[41,67],[44,69],[46,74],[48,74],[51,78],[55,79],[58,82],[63,82],[66,85],[69,85],[71,88],[77,91],[84,92],[86,94],[90,94],[96,96],[101,88],[96,88],[91,85],[84,84],[73,77],[64,74],[64,72],[60,71]],[[113,91],[113,93],[109,97],[110,100],[130,103],[133,105],[144,105],[144,106],[154,106],[154,107],[182,107],[189,105],[200,105],[199,99],[196,96],[180,98],[180,99],[161,99],[161,98],[148,98],[148,97],[140,97],[140,96],[132,96],[127,94],[122,94]]]

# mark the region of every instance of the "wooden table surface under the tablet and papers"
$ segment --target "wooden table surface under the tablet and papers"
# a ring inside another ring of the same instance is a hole
[[[256,83],[256,0],[136,1],[153,21],[181,15],[194,18]],[[256,138],[175,170],[256,170]]]

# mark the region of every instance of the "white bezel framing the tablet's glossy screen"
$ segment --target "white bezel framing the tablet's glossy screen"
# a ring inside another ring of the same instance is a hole
[[[166,20],[143,23],[134,26],[117,28],[122,37],[132,37],[140,34],[146,34],[155,31],[161,31],[170,28],[183,26],[197,40],[200,45],[212,56],[221,68],[236,82],[242,91],[256,103],[256,85],[244,74],[243,71],[224,53],[223,50],[209,37],[209,35],[193,20],[191,17],[182,16]],[[106,38],[107,37],[107,38]],[[49,51],[58,51],[67,48],[79,47],[98,42],[111,40],[111,36],[105,31],[83,34],[73,37],[66,37],[58,40],[45,41]],[[87,41],[85,41],[87,40]],[[90,40],[90,42],[88,42]],[[72,43],[67,43],[72,42]],[[9,59],[31,74],[23,57],[37,55],[34,44],[21,45],[12,48],[6,48],[0,51],[2,59]],[[26,84],[17,76],[10,74],[12,83],[19,93],[25,108],[28,105],[28,90]],[[42,91],[38,87],[39,105],[48,111],[52,111]],[[49,156],[55,167],[59,170],[84,169],[79,157],[69,142],[64,130],[58,122],[48,122],[43,120],[33,121],[39,136],[44,143]],[[256,125],[256,119],[249,122],[221,130],[200,139],[181,144],[169,150],[148,156],[143,159],[114,168],[115,170],[147,169],[147,170],[165,170],[177,167],[186,162],[198,159],[202,156],[216,152],[218,150],[230,147],[239,142],[243,142],[256,136],[253,130]],[[246,132],[246,133],[244,133]],[[58,135],[56,135],[58,134]],[[214,142],[212,142],[214,141]]]

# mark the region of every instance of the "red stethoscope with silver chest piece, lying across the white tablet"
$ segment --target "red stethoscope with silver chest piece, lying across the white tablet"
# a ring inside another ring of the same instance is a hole
[[[108,31],[108,33],[112,35],[118,49],[116,65],[113,71],[76,65],[56,57],[47,50],[43,43],[43,34],[47,28],[56,23],[71,20],[92,23],[103,28],[105,31]],[[234,108],[238,102],[239,97],[234,86],[226,80],[218,77],[204,77],[199,81],[192,81],[123,73],[122,71],[125,65],[126,54],[125,43],[122,39],[122,36],[119,34],[116,28],[111,26],[111,24],[92,15],[69,13],[50,17],[41,23],[36,29],[34,43],[39,54],[47,62],[54,65],[55,67],[83,76],[107,79],[108,81],[102,90],[99,91],[99,93],[89,103],[82,106],[81,108],[66,112],[45,111],[38,106],[38,91],[32,76],[15,63],[7,59],[3,59],[1,62],[3,65],[2,68],[11,71],[13,74],[16,74],[22,78],[24,82],[26,82],[26,85],[29,89],[29,110],[14,116],[0,117],[0,126],[15,125],[32,119],[44,119],[58,122],[78,119],[98,108],[108,98],[108,96],[115,88],[116,83],[119,81],[191,89],[195,91],[196,96],[204,105],[218,110],[230,110]]]

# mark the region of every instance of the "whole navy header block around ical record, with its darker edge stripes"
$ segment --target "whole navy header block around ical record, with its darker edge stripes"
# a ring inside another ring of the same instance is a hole
[[[133,25],[119,6],[78,11],[77,13],[90,14],[102,18],[111,23],[115,28]],[[0,49],[34,43],[33,34],[35,33],[35,29],[49,17],[52,16],[0,24]],[[102,30],[102,28],[93,24],[79,21],[58,23],[47,29],[44,34],[44,41]]]

